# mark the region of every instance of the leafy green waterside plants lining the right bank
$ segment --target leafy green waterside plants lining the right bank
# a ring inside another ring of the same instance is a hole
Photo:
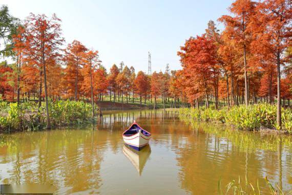
[[[228,110],[212,108],[181,108],[180,117],[185,120],[212,121],[232,125],[240,130],[259,130],[261,128],[279,129],[276,125],[277,106],[256,104],[248,107],[235,106]],[[292,111],[282,108],[282,130],[292,133]]]

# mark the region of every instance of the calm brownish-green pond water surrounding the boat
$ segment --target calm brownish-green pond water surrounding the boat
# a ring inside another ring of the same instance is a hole
[[[121,133],[152,133],[140,152]],[[241,178],[292,190],[292,137],[187,123],[175,111],[111,111],[94,125],[0,135],[0,184],[53,184],[56,194],[217,194]]]

